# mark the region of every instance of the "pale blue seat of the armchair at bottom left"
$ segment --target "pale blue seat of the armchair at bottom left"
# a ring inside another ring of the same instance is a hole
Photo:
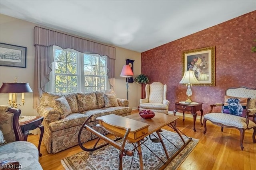
[[[18,161],[23,170],[42,170],[38,162],[37,147],[26,141],[16,141],[0,146],[0,162]]]

